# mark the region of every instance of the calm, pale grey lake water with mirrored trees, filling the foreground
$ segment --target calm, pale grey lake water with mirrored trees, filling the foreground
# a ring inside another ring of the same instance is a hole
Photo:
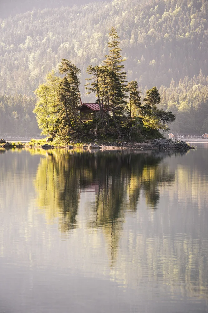
[[[208,312],[208,146],[0,150],[0,311]]]

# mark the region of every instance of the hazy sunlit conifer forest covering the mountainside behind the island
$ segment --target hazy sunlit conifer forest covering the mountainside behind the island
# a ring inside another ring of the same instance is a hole
[[[82,101],[94,102],[84,88],[86,68],[103,64],[113,24],[127,58],[128,80],[136,80],[144,95],[157,86],[163,108],[177,115],[171,131],[207,132],[207,1],[114,0],[48,6],[37,9],[37,2],[31,12],[0,20],[2,95],[34,96],[46,74],[51,69],[58,73],[61,59],[67,58],[81,70]]]

